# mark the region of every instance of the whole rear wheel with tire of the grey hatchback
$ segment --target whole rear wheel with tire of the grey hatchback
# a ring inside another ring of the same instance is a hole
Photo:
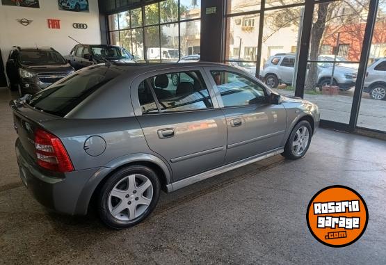
[[[116,230],[137,225],[156,207],[160,186],[156,173],[145,166],[128,166],[114,172],[99,193],[99,217]]]

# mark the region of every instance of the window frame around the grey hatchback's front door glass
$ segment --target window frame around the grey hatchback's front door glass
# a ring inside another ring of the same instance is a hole
[[[259,88],[262,88],[262,90],[264,92],[264,96],[266,98],[266,102],[258,103],[258,104],[239,105],[239,106],[224,106],[223,97],[221,97],[220,90],[218,90],[218,86],[217,86],[216,82],[214,81],[214,78],[212,77],[212,74],[211,74],[211,72],[216,72],[216,71],[217,72],[230,72],[231,74],[237,74],[245,79],[248,79],[249,81],[252,81],[257,86],[259,86]],[[218,104],[220,105],[220,109],[250,108],[251,106],[257,107],[257,106],[264,106],[266,104],[270,104],[268,102],[268,99],[269,99],[269,95],[271,95],[271,91],[268,90],[268,88],[266,88],[264,83],[259,81],[259,79],[257,79],[256,77],[248,76],[248,74],[246,74],[246,72],[243,72],[241,70],[237,70],[234,68],[229,69],[229,68],[225,68],[225,67],[224,68],[222,68],[222,67],[216,67],[216,68],[207,67],[205,72],[207,73],[208,77],[210,78],[211,87],[214,88],[214,90],[215,90],[217,101],[218,101]]]

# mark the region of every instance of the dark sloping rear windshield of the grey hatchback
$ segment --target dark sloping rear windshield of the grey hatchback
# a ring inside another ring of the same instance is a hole
[[[33,95],[29,105],[39,111],[64,117],[98,88],[117,77],[113,67],[87,67]]]

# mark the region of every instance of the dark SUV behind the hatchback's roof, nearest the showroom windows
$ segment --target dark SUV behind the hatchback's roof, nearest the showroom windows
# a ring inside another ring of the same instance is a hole
[[[75,45],[70,55],[65,56],[76,70],[97,63],[135,63],[134,56],[126,49],[115,45]]]

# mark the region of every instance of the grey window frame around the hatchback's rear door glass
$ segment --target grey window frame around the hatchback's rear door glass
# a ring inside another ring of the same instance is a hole
[[[175,74],[175,73],[179,73],[179,72],[199,72],[201,74],[202,81],[204,81],[204,85],[206,86],[206,88],[208,90],[209,97],[211,99],[212,107],[206,108],[206,109],[192,109],[192,110],[186,110],[186,111],[162,110],[161,104],[159,103],[159,100],[155,95],[154,89],[151,87],[150,90],[152,91],[154,101],[155,101],[157,107],[159,108],[159,112],[157,112],[157,113],[143,113],[142,108],[140,106],[139,97],[138,97],[138,88],[139,88],[140,83],[142,81],[144,81],[145,79],[148,79],[150,77],[154,77],[154,76],[159,75],[159,74]],[[191,67],[191,66],[189,66],[189,67],[173,67],[173,68],[169,68],[166,70],[154,70],[151,72],[147,72],[145,74],[140,74],[140,75],[136,76],[131,83],[130,97],[131,97],[131,104],[132,104],[133,109],[134,109],[134,114],[136,116],[170,115],[173,113],[188,113],[188,112],[193,112],[193,111],[213,111],[214,109],[219,109],[217,97],[216,97],[214,90],[211,86],[210,79],[208,79],[207,74],[202,67]]]

